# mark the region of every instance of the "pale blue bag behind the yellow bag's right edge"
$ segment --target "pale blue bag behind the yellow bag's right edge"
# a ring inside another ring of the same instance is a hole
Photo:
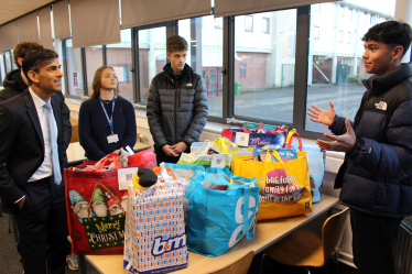
[[[289,132],[288,139],[284,142],[283,146],[288,144],[288,149],[292,147],[293,134],[297,136],[299,150],[306,152],[307,166],[310,171],[312,202],[319,202],[322,198],[323,176],[325,174],[326,152],[321,151],[319,147],[302,146],[301,136],[296,132],[296,130],[292,130]]]

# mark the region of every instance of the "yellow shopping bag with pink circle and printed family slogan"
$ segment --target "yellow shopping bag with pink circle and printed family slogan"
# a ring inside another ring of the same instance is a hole
[[[278,162],[271,162],[270,152]],[[235,157],[234,174],[258,182],[258,220],[312,212],[306,152],[297,152],[296,160],[285,163],[272,149],[267,149],[265,162],[254,162],[252,156]]]

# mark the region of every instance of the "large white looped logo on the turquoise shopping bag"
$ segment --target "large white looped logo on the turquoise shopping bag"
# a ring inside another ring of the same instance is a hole
[[[236,204],[236,215],[235,215],[235,219],[236,219],[236,222],[239,223],[240,226],[237,227],[234,231],[234,233],[231,233],[231,237],[230,237],[230,240],[229,240],[229,248],[234,246],[238,241],[240,241],[240,239],[245,235],[245,224],[243,224],[243,215],[242,215],[242,206],[245,204],[245,196],[240,197]],[[253,209],[253,211],[251,210],[248,210],[248,220],[251,216],[253,216],[253,219],[250,221],[249,223],[249,228],[253,228],[254,226],[254,222],[256,222],[256,217],[258,215],[258,210],[259,210],[259,206],[257,205],[256,202],[256,199],[250,196],[249,197],[249,209]]]

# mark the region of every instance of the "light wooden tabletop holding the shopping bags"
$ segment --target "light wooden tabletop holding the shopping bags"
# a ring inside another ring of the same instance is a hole
[[[305,223],[314,220],[319,215],[328,212],[337,202],[338,198],[323,195],[322,201],[313,205],[313,211],[311,213],[275,220],[259,221],[256,228],[254,238],[252,240],[247,240],[246,237],[243,237],[232,249],[217,257],[208,257],[194,252],[188,252],[188,267],[175,271],[173,273],[210,273],[232,264],[246,255],[249,251],[253,251],[256,255],[296,229],[301,228]],[[100,273],[129,273],[128,271],[123,270],[123,255],[86,255],[85,257]],[[79,266],[80,264],[82,262],[79,262]],[[85,270],[80,270],[80,274],[83,273],[86,273]]]

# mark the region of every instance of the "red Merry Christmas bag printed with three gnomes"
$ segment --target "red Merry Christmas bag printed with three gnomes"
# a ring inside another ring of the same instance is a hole
[[[86,165],[85,163],[83,165]],[[128,190],[120,189],[118,169],[65,169],[66,210],[72,252],[122,254]]]

